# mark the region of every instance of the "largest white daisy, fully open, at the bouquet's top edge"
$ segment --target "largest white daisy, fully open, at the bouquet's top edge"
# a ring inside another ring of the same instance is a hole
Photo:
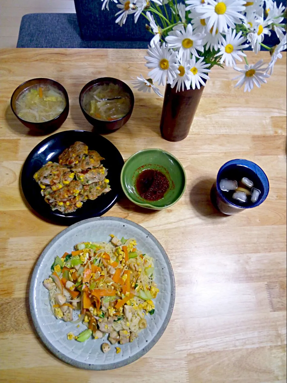
[[[241,24],[244,16],[239,12],[245,11],[245,4],[245,0],[208,0],[208,4],[202,4],[196,10],[203,18],[209,18],[207,29],[213,27],[215,34],[216,29],[221,33],[227,31],[227,26],[235,28],[235,24]]]

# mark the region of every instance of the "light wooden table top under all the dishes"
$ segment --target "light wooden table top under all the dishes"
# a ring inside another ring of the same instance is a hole
[[[59,130],[91,130],[78,94],[91,79],[147,74],[144,51],[2,49],[0,51],[0,354],[1,382],[275,383],[286,381],[286,53],[261,89],[235,90],[232,69],[212,69],[189,136],[160,136],[163,100],[135,90],[129,122],[108,136],[124,159],[160,147],[187,174],[181,200],[163,211],[128,200],[106,215],[141,224],[165,247],[176,281],[173,315],[158,343],[137,362],[113,371],[80,370],[42,344],[33,328],[28,288],[44,247],[64,229],[37,218],[19,189],[23,161],[44,137],[28,135],[10,109],[24,80],[50,77],[70,98]],[[269,60],[267,52],[255,57]],[[163,90],[163,88],[162,88]],[[227,160],[246,158],[266,172],[267,200],[258,208],[220,216],[210,186]]]

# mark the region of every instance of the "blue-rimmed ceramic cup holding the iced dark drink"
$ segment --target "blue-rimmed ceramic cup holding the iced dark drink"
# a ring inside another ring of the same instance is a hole
[[[241,177],[247,177],[254,182],[254,186],[258,188],[261,193],[256,202],[250,205],[238,205],[236,200],[229,200],[226,194],[220,189],[219,183],[222,178],[228,178],[231,180],[238,180]],[[223,214],[235,214],[242,210],[255,208],[266,200],[269,192],[269,182],[266,174],[263,172],[261,167],[254,164],[252,161],[236,159],[226,162],[219,169],[217,173],[216,183],[212,187],[210,196],[212,203],[215,207]]]

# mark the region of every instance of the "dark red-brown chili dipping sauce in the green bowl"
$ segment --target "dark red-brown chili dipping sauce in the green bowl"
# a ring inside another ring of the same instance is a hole
[[[148,201],[158,201],[163,198],[170,187],[166,176],[159,170],[143,170],[137,176],[135,187],[139,195]]]

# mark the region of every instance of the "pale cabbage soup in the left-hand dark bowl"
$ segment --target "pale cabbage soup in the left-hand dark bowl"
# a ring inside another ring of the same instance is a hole
[[[16,113],[25,121],[50,121],[62,113],[66,106],[64,94],[51,85],[33,85],[25,89],[16,100]]]

